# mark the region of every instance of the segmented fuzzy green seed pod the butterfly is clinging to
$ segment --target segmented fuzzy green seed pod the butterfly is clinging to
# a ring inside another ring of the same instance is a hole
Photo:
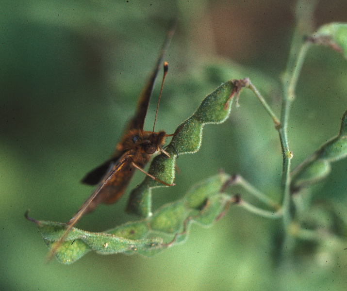
[[[234,88],[233,81],[227,81],[205,97],[198,110],[176,129],[176,134],[166,149],[170,158],[163,155],[155,157],[149,167],[149,174],[168,184],[173,183],[177,155],[197,152],[201,145],[203,126],[208,123],[222,123],[228,118]],[[130,194],[127,211],[148,217],[151,213],[153,187],[164,186],[147,176]]]

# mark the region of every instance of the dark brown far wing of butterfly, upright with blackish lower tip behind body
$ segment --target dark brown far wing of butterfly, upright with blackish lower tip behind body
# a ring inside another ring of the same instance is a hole
[[[132,117],[132,119],[129,120],[127,127],[125,128],[123,132],[123,136],[120,139],[118,145],[122,145],[125,138],[127,137],[127,133],[129,133],[132,129],[143,129],[145,124],[145,118],[149,106],[150,97],[152,96],[152,91],[155,83],[155,79],[157,78],[158,71],[160,69],[160,65],[163,62],[163,58],[165,55],[165,51],[170,43],[170,40],[172,38],[172,35],[175,31],[176,27],[176,21],[173,21],[170,25],[170,29],[167,32],[166,39],[164,41],[163,47],[160,51],[159,57],[157,59],[157,62],[154,66],[154,69],[152,71],[152,74],[149,77],[149,80],[147,81],[146,86],[143,88],[138,101],[136,105],[136,112],[135,115]],[[106,175],[107,170],[109,169],[110,165],[113,162],[116,162],[121,156],[123,152],[122,151],[116,151],[113,158],[102,163],[99,165],[99,167],[91,170],[87,175],[82,179],[83,184],[87,185],[96,185],[98,184],[101,179]]]

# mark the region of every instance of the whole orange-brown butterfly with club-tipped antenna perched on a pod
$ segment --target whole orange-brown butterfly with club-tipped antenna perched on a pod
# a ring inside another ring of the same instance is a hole
[[[152,154],[154,153],[161,152],[165,156],[170,157],[162,146],[165,143],[165,138],[168,136],[173,136],[175,133],[166,134],[165,131],[154,132],[159,101],[163,90],[165,76],[168,70],[168,65],[166,62],[164,63],[164,77],[159,94],[157,110],[155,113],[153,130],[144,131],[143,128],[155,79],[174,30],[175,24],[171,25],[171,28],[167,33],[154,70],[138,98],[135,115],[128,122],[120,142],[116,145],[115,153],[111,159],[90,171],[82,180],[83,183],[88,185],[99,184],[98,188],[89,196],[76,214],[67,222],[68,226],[60,240],[55,243],[54,247],[52,247],[49,254],[49,259],[57,251],[71,228],[81,219],[84,214],[93,211],[100,203],[115,203],[123,195],[134,174],[135,169],[139,169],[150,178],[155,179],[166,186],[174,185],[167,184],[143,170],[143,167],[149,162]]]

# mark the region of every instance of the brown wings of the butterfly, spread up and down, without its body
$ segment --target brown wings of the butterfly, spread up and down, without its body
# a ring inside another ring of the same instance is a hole
[[[90,171],[82,180],[83,183],[89,185],[99,184],[99,187],[88,197],[76,214],[68,221],[68,226],[60,238],[60,240],[50,250],[48,259],[51,259],[57,249],[60,247],[66,235],[71,228],[88,212],[91,212],[98,206],[99,203],[114,203],[124,193],[130,179],[134,173],[134,168],[131,162],[131,153],[122,149],[123,142],[129,136],[128,133],[133,130],[143,130],[145,118],[149,106],[150,97],[152,95],[154,82],[157,77],[160,64],[163,61],[165,50],[172,38],[175,30],[176,21],[171,24],[167,33],[164,45],[155,64],[154,70],[150,78],[139,96],[136,112],[132,119],[128,122],[120,142],[116,146],[116,152],[113,157],[99,165],[97,168]]]

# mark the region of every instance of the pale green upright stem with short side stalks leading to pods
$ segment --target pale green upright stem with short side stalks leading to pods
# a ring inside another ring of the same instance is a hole
[[[288,145],[288,120],[289,113],[292,106],[293,101],[295,100],[295,91],[297,87],[297,81],[300,75],[300,71],[302,65],[305,60],[305,56],[307,50],[311,47],[310,42],[302,42],[303,36],[308,29],[310,29],[310,23],[312,19],[312,15],[314,12],[316,1],[298,1],[296,15],[297,15],[297,27],[293,36],[292,45],[290,49],[290,54],[287,62],[286,70],[282,76],[282,86],[283,86],[283,96],[282,96],[282,105],[281,105],[281,119],[278,119],[276,114],[273,113],[271,108],[268,106],[264,97],[259,93],[257,88],[248,80],[246,87],[253,91],[255,96],[259,99],[261,104],[264,106],[266,112],[270,115],[271,119],[275,124],[275,128],[279,132],[281,149],[282,149],[282,157],[283,157],[283,165],[282,165],[282,180],[281,180],[281,188],[282,188],[282,207],[281,210],[275,212],[277,215],[283,216],[283,223],[285,228],[287,229],[292,223],[292,197],[290,193],[290,184],[291,184],[291,176],[290,176],[290,163],[293,157],[293,153],[289,149]],[[242,178],[241,178],[242,179]],[[256,196],[258,199],[263,202],[269,204],[268,198],[259,193],[256,189],[254,189],[251,185],[249,185],[246,181],[240,180],[240,185],[246,188],[249,193]],[[260,210],[254,208],[254,206],[243,202],[245,208],[250,210],[251,212],[261,213],[262,216],[272,217],[274,214],[268,213],[265,210]],[[263,212],[265,211],[265,212]],[[267,214],[266,214],[267,213]],[[264,215],[263,215],[264,214]]]

